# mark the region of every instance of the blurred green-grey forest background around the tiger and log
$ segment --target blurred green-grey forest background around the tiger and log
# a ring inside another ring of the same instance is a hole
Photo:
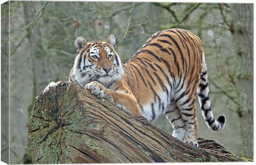
[[[201,38],[213,114],[227,118],[222,132],[212,132],[197,102],[199,137],[253,158],[253,4],[11,1],[1,5],[1,159],[8,159],[10,140],[9,163],[31,163],[27,122],[33,101],[49,82],[68,80],[76,37],[105,40],[114,34],[124,63],[166,28]],[[165,116],[154,124],[172,133]]]

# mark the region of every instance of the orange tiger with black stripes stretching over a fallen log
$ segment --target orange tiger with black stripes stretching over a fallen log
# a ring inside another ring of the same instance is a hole
[[[216,120],[211,111],[209,83],[202,43],[184,29],[154,33],[125,63],[114,49],[114,35],[104,41],[75,40],[77,56],[69,81],[110,101],[136,117],[154,121],[165,114],[172,136],[198,147],[196,95],[210,130],[225,126],[225,115]],[[51,82],[47,87],[56,86]]]

